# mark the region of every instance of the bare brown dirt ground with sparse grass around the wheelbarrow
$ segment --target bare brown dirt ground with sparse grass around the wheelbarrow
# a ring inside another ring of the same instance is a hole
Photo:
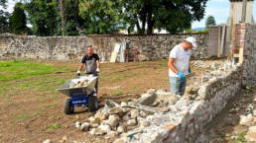
[[[67,142],[112,142],[104,138],[84,134],[72,124],[91,116],[86,108],[76,107],[75,113],[65,115],[64,99],[55,91],[64,81],[75,76],[79,63],[64,61],[34,61],[50,63],[55,67],[69,68],[70,71],[41,75],[2,83],[0,95],[0,142],[42,142],[51,139]],[[147,89],[170,89],[167,61],[104,63],[99,78],[99,101],[116,102],[138,98]],[[193,77],[203,69],[192,67]],[[188,86],[191,80],[188,80]]]

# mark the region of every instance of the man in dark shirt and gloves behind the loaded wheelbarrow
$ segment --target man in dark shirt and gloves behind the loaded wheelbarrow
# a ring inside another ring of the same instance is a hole
[[[99,57],[96,53],[93,53],[93,48],[91,45],[87,46],[87,54],[85,54],[81,59],[81,64],[77,71],[78,76],[80,75],[80,71],[83,69],[84,65],[85,65],[86,75],[92,74],[94,76],[98,76],[99,67],[100,67]],[[96,83],[95,83],[96,96],[97,96],[97,92],[98,92],[98,79],[96,80]]]

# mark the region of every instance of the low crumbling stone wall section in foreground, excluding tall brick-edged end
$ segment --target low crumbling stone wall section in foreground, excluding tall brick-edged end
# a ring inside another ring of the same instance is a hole
[[[175,105],[170,106],[169,112],[155,113],[153,117],[147,117],[151,125],[143,128],[143,133],[131,139],[120,140],[133,143],[207,142],[200,141],[197,137],[202,127],[237,94],[241,87],[241,73],[241,66],[224,69],[221,75],[212,76],[197,90],[193,88],[192,91],[187,91]],[[191,96],[196,98],[188,98]],[[129,133],[132,132],[134,131]]]

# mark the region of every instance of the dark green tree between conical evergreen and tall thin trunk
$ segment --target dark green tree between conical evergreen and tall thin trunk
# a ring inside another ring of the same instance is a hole
[[[58,36],[62,27],[57,0],[32,0],[26,4],[36,36]]]

